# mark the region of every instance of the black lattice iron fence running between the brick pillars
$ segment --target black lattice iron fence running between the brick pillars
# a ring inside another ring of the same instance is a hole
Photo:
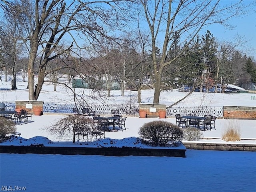
[[[4,102],[6,110],[15,110],[15,102]],[[76,106],[75,104],[64,103],[48,103],[44,102],[44,113],[73,113],[73,108],[78,107],[82,112],[83,106]],[[95,111],[97,114],[111,114],[111,110],[120,110],[123,115],[138,115],[138,105],[124,105],[124,104],[94,104],[88,106],[90,110]],[[223,117],[223,107],[211,107],[211,106],[172,106],[167,107],[166,115],[172,116],[180,114],[181,116],[193,113],[197,116],[204,116],[205,114],[211,114],[216,117]]]

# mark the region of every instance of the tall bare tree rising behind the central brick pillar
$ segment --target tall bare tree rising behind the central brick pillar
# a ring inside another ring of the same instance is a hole
[[[203,28],[214,23],[232,28],[228,21],[246,14],[242,0],[225,6],[220,5],[220,0],[140,0],[140,2],[151,34],[154,103],[159,102],[164,69],[185,54],[185,50]],[[180,51],[169,60],[174,33],[181,37],[180,45],[184,46],[180,46]],[[156,48],[161,38],[163,39],[162,56],[158,62]]]

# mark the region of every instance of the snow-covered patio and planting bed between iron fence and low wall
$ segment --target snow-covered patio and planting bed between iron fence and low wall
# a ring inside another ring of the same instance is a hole
[[[128,116],[126,119],[126,130],[118,132],[106,132],[106,139],[102,139],[100,142],[98,140],[76,140],[75,144],[72,143],[72,135],[66,137],[58,137],[57,135],[52,135],[46,131],[46,127],[54,124],[60,118],[64,118],[64,115],[56,114],[46,114],[42,116],[33,116],[33,122],[28,124],[17,125],[17,132],[20,133],[20,137],[25,140],[20,143],[20,140],[12,140],[12,142],[4,142],[1,145],[24,145],[30,146],[36,144],[43,144],[44,146],[60,146],[60,147],[134,147],[136,141],[131,138],[138,138],[138,129],[146,122],[151,122],[154,120],[164,120],[172,123],[176,123],[176,118],[168,117],[166,119],[159,118],[139,118],[136,116]],[[237,126],[240,127],[241,140],[236,142],[226,142],[221,139],[222,133],[228,124],[228,122],[234,121]],[[226,120],[222,118],[216,119],[216,130],[206,130],[202,131],[203,138],[198,141],[182,141],[183,144],[186,143],[216,143],[216,144],[250,144],[256,146],[256,124],[255,120]],[[36,137],[40,136],[40,137]],[[35,138],[36,137],[36,138]],[[47,140],[42,139],[42,137],[48,138]],[[31,140],[27,140],[33,138]],[[49,142],[49,140],[51,142]],[[110,144],[110,140],[115,142]],[[139,148],[145,148],[145,146],[135,146]],[[182,147],[184,149],[184,146]]]

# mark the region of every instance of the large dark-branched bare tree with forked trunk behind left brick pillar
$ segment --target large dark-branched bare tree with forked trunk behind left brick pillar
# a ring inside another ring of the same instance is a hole
[[[5,10],[11,11],[13,14],[18,12],[15,9],[18,2],[3,2],[5,4],[2,7]],[[82,39],[87,44],[92,44],[97,43],[100,36],[108,37],[107,32],[113,31],[113,27],[116,29],[124,24],[122,18],[125,17],[127,20],[128,17],[125,16],[126,10],[124,9],[126,7],[125,3],[132,1],[36,0],[34,3],[30,0],[22,0],[21,2],[19,16],[31,21],[20,21],[27,32],[29,42],[29,100],[37,100],[42,90],[48,62],[62,54],[75,53],[76,50],[80,49]],[[27,2],[29,8],[24,6],[24,2]],[[69,36],[72,42],[63,46],[62,42],[66,36]],[[54,54],[56,49],[58,49],[58,53]],[[40,64],[38,83],[35,89],[34,62],[37,56],[40,56]]]

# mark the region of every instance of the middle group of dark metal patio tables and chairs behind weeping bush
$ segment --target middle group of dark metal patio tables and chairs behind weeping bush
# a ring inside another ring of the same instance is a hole
[[[122,117],[119,110],[112,110],[111,116],[100,116],[94,111],[90,111],[89,108],[82,109],[82,113],[77,108],[73,108],[74,116],[80,116],[82,118],[90,119],[92,126],[88,124],[76,125],[74,129],[74,135],[76,136],[87,136],[91,134],[92,138],[97,136],[105,138],[105,132],[126,130],[125,122],[127,117]],[[90,116],[92,118],[90,118]],[[79,138],[78,138],[79,139]]]

